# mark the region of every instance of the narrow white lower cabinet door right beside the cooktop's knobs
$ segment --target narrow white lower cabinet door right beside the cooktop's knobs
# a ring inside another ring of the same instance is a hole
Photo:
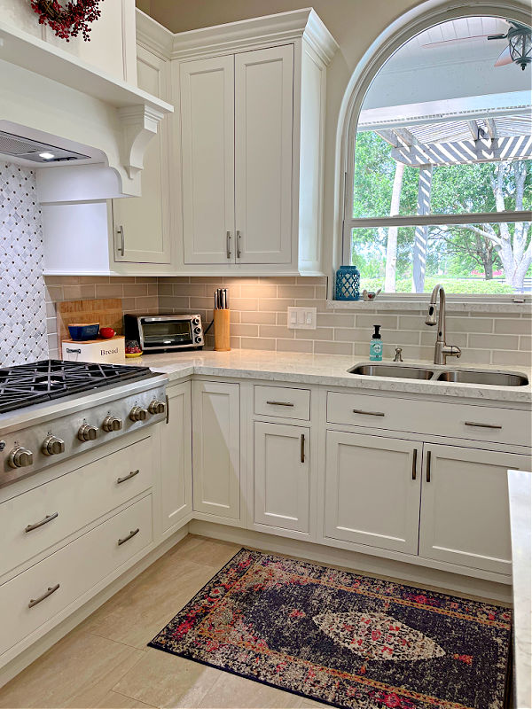
[[[168,417],[160,432],[161,531],[173,530],[192,511],[191,383],[169,386]]]

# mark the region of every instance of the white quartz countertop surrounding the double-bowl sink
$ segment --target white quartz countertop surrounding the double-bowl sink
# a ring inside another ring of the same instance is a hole
[[[346,386],[353,389],[381,392],[423,393],[433,396],[451,396],[461,399],[499,401],[501,403],[531,403],[532,386],[478,386],[476,384],[454,384],[420,379],[391,377],[366,377],[350,374],[348,370],[356,364],[368,362],[346,355],[301,354],[295,352],[268,352],[265,350],[235,349],[231,352],[201,350],[162,354],[144,354],[138,359],[128,359],[125,363],[140,364],[168,375],[170,381],[200,374],[207,377],[228,377],[263,379],[272,382],[293,384],[321,384],[325,386]],[[532,379],[532,372],[526,368],[501,369],[495,366],[458,366],[455,362],[447,367],[439,367],[431,362],[404,362],[439,370],[491,370],[512,371],[525,374]]]

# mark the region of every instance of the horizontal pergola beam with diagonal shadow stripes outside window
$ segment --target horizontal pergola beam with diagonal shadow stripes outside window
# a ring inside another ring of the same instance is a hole
[[[391,155],[394,160],[413,168],[421,168],[424,165],[464,165],[473,162],[526,160],[532,158],[532,136],[414,144],[392,148]]]

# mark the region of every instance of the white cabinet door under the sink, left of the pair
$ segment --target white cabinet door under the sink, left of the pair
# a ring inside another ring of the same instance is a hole
[[[417,554],[422,443],[329,431],[325,536]]]

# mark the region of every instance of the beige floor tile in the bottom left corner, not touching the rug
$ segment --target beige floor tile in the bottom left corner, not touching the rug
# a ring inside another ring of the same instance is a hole
[[[94,707],[144,652],[74,630],[0,690],[0,707]]]

